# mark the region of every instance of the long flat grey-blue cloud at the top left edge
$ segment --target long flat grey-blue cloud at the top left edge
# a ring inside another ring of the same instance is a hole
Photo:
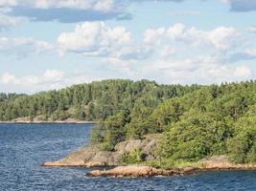
[[[114,0],[4,0],[0,7],[10,8],[10,15],[33,21],[81,22],[127,18],[129,13],[121,1]]]

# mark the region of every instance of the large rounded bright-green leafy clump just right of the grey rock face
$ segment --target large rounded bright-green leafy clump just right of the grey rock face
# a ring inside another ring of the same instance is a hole
[[[189,161],[223,153],[231,134],[221,117],[194,111],[184,114],[168,128],[161,142],[161,156]]]

